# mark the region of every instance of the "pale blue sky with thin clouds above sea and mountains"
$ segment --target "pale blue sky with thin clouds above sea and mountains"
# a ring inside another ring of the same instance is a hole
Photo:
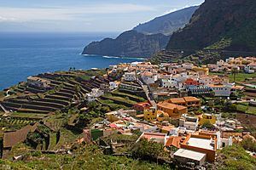
[[[121,32],[204,0],[0,0],[0,32]]]

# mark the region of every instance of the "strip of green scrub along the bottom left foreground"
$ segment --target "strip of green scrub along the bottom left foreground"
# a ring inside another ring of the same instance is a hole
[[[0,168],[11,169],[171,169],[148,161],[137,161],[125,156],[106,156],[96,145],[86,145],[73,150],[73,155],[47,155],[40,152],[28,153],[23,161],[0,161]]]

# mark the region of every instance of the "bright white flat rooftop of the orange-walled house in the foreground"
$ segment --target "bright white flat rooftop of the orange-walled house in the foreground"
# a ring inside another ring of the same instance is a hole
[[[195,146],[197,148],[214,150],[214,147],[212,146],[212,139],[201,139],[201,138],[191,137],[189,138],[189,141],[187,144],[189,146]]]

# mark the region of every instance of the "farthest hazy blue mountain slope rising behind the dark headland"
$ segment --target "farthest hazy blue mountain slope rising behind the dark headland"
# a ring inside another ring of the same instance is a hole
[[[199,8],[199,6],[177,10],[173,13],[157,17],[144,24],[140,24],[133,28],[133,30],[144,34],[162,33],[166,36],[172,35],[174,31],[183,28],[183,26],[189,23],[192,14],[195,13],[197,8]]]

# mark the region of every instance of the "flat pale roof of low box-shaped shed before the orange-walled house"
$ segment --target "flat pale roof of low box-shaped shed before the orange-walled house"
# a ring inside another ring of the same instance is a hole
[[[201,161],[205,156],[207,156],[207,154],[193,150],[179,149],[174,153],[174,156],[185,157],[187,159],[195,161]]]

